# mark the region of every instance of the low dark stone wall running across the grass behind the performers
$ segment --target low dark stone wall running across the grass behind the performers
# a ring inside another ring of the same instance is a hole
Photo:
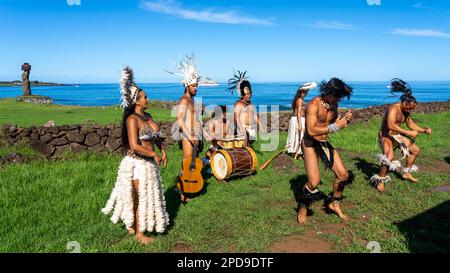
[[[167,107],[171,104],[168,103]],[[352,123],[367,122],[374,117],[380,117],[384,113],[386,105],[369,107],[366,109],[353,110],[354,120]],[[420,103],[414,113],[437,113],[450,110],[450,101]],[[345,112],[345,110],[341,110]],[[279,131],[287,132],[289,128],[290,113],[280,113]],[[268,115],[269,130],[270,114]],[[160,130],[164,136],[164,144],[172,145],[177,141],[171,137],[173,122],[159,123]],[[7,145],[29,145],[46,158],[58,159],[66,151],[79,153],[92,151],[96,153],[124,153],[121,145],[121,125],[61,125],[61,126],[32,126],[20,128],[12,124],[4,124],[1,127],[2,138]],[[3,162],[14,162],[14,155]],[[18,161],[22,161],[20,158]]]

